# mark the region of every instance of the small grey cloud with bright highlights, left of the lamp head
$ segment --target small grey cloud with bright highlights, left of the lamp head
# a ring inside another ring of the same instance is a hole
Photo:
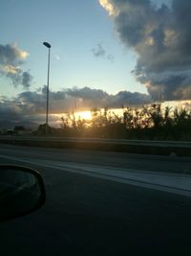
[[[29,53],[19,49],[16,45],[0,45],[0,75],[9,78],[14,86],[23,85],[29,88],[32,76],[21,68],[28,57]]]

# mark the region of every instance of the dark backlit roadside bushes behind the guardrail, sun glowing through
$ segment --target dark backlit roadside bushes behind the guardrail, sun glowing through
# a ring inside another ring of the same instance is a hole
[[[159,104],[123,108],[123,115],[112,110],[94,108],[92,119],[76,118],[74,114],[62,116],[60,128],[49,127],[49,135],[80,138],[118,138],[148,140],[191,140],[191,110]],[[37,135],[45,134],[45,125],[39,126]]]

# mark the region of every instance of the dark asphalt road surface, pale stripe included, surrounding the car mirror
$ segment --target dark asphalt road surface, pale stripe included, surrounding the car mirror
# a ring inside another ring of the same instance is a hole
[[[191,159],[0,146],[0,163],[39,170],[47,191],[0,224],[2,255],[191,255]]]

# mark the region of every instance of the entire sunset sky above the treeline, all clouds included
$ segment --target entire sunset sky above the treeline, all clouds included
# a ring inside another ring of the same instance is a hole
[[[1,0],[0,121],[191,100],[190,0]]]

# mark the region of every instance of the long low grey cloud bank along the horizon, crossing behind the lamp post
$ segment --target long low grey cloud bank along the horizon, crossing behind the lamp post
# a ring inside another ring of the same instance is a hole
[[[36,91],[24,91],[13,99],[0,96],[0,124],[12,122],[35,121],[45,115],[47,101],[46,85]],[[108,94],[90,87],[69,88],[60,91],[50,91],[50,114],[91,109],[93,107],[121,107],[121,105],[144,105],[151,99],[146,94],[118,92]]]

